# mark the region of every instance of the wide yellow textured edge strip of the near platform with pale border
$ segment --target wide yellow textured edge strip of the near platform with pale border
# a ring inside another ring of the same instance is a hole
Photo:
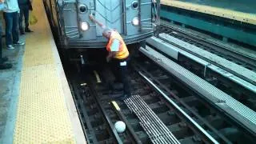
[[[42,1],[26,35],[14,143],[86,143]]]

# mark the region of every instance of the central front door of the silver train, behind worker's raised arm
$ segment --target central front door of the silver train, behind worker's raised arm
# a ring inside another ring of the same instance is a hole
[[[123,33],[123,1],[95,0],[95,18],[111,29]],[[102,29],[96,26],[97,36],[102,36]]]

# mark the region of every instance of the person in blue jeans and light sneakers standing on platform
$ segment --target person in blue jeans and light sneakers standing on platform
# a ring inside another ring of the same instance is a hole
[[[6,48],[13,50],[13,45],[24,45],[24,42],[19,41],[18,34],[18,0],[6,0],[5,4],[3,17],[6,21]]]

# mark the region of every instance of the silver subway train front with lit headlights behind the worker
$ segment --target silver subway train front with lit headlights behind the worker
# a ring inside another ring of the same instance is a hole
[[[118,30],[126,44],[143,42],[158,23],[155,0],[44,0],[53,33],[66,49],[104,48],[106,38],[90,14]]]

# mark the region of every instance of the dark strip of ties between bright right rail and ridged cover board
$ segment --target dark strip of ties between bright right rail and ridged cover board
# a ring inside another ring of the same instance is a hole
[[[162,70],[159,66],[154,65],[152,62],[139,60],[136,63],[136,67],[140,71],[140,74],[143,72],[142,75],[146,79],[146,82],[154,82],[154,86],[157,86],[158,90],[161,90],[162,96],[166,94],[163,99],[166,99],[168,96],[170,100],[182,107],[182,110],[185,110],[186,114],[195,119],[195,122],[198,122],[199,126],[202,126],[207,132],[210,131],[209,134],[211,134],[211,136],[218,142],[233,143],[239,141],[238,139],[238,141],[234,139],[230,140],[230,135],[223,134],[222,131],[236,131],[239,135],[239,133],[242,134],[242,130],[234,126],[234,124],[231,124],[230,120],[228,120],[229,118],[223,118],[224,116],[219,114],[218,110],[214,110],[213,106],[210,106],[209,103],[204,102],[197,94],[194,94],[188,90],[186,86],[182,85],[178,81],[178,79],[173,78],[165,70]],[[184,120],[186,122],[190,122],[189,118],[185,117]],[[224,127],[218,125],[218,122],[222,123],[221,125]]]

